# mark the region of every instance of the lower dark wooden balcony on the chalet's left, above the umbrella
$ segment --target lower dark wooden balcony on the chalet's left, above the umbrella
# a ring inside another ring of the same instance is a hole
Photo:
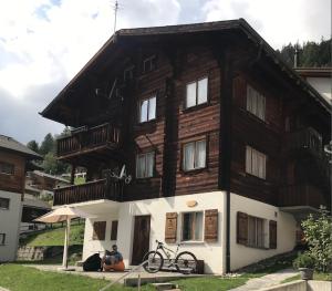
[[[108,199],[120,201],[123,194],[123,183],[120,180],[100,179],[82,185],[54,189],[53,205],[70,205],[92,200]]]

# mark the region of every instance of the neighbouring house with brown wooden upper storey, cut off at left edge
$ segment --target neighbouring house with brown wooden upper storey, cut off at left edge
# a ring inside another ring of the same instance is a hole
[[[41,156],[15,139],[0,135],[0,261],[15,259],[25,170],[32,159],[41,159]]]

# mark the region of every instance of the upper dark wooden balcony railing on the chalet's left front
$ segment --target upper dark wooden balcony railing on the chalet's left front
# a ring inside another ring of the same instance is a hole
[[[95,127],[82,127],[73,131],[70,136],[58,139],[58,156],[64,156],[75,152],[94,148],[101,145],[118,146],[120,129],[110,125],[102,124]]]

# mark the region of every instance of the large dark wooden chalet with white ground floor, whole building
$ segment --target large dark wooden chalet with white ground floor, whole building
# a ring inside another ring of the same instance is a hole
[[[158,239],[236,270],[292,250],[329,205],[330,113],[242,19],[120,30],[42,112],[76,127],[58,156],[87,169],[54,206],[96,217],[83,259],[117,243],[138,264]]]

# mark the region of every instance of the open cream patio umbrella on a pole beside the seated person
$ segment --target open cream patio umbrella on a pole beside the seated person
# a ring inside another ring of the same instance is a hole
[[[39,218],[35,218],[35,221],[46,222],[46,224],[55,224],[55,222],[62,222],[66,221],[65,227],[65,236],[64,236],[64,247],[63,247],[63,260],[62,260],[62,267],[64,270],[68,269],[68,247],[69,247],[69,238],[70,238],[70,230],[71,230],[71,219],[75,217],[82,217],[82,218],[94,218],[91,215],[69,206],[63,206],[60,208],[56,208],[55,210],[48,212]]]

